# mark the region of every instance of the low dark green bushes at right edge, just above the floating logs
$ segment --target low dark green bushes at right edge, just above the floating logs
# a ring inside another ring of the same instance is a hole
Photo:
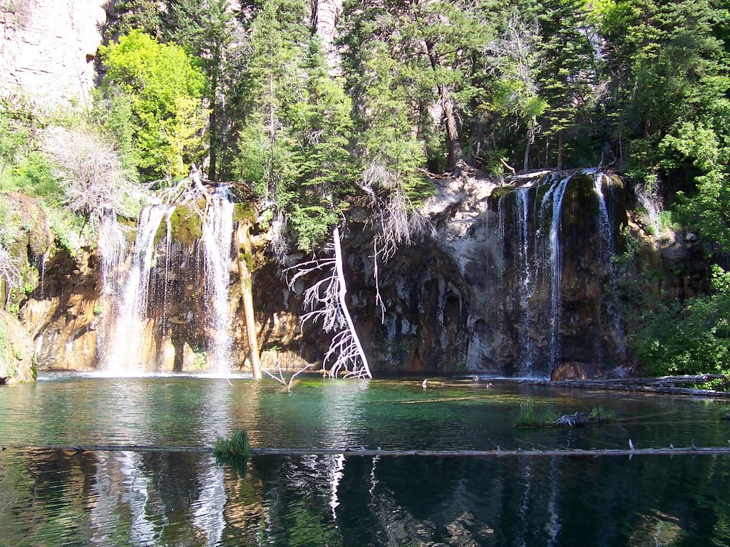
[[[641,318],[633,346],[651,374],[730,371],[730,273],[715,266],[711,295],[655,306]]]

